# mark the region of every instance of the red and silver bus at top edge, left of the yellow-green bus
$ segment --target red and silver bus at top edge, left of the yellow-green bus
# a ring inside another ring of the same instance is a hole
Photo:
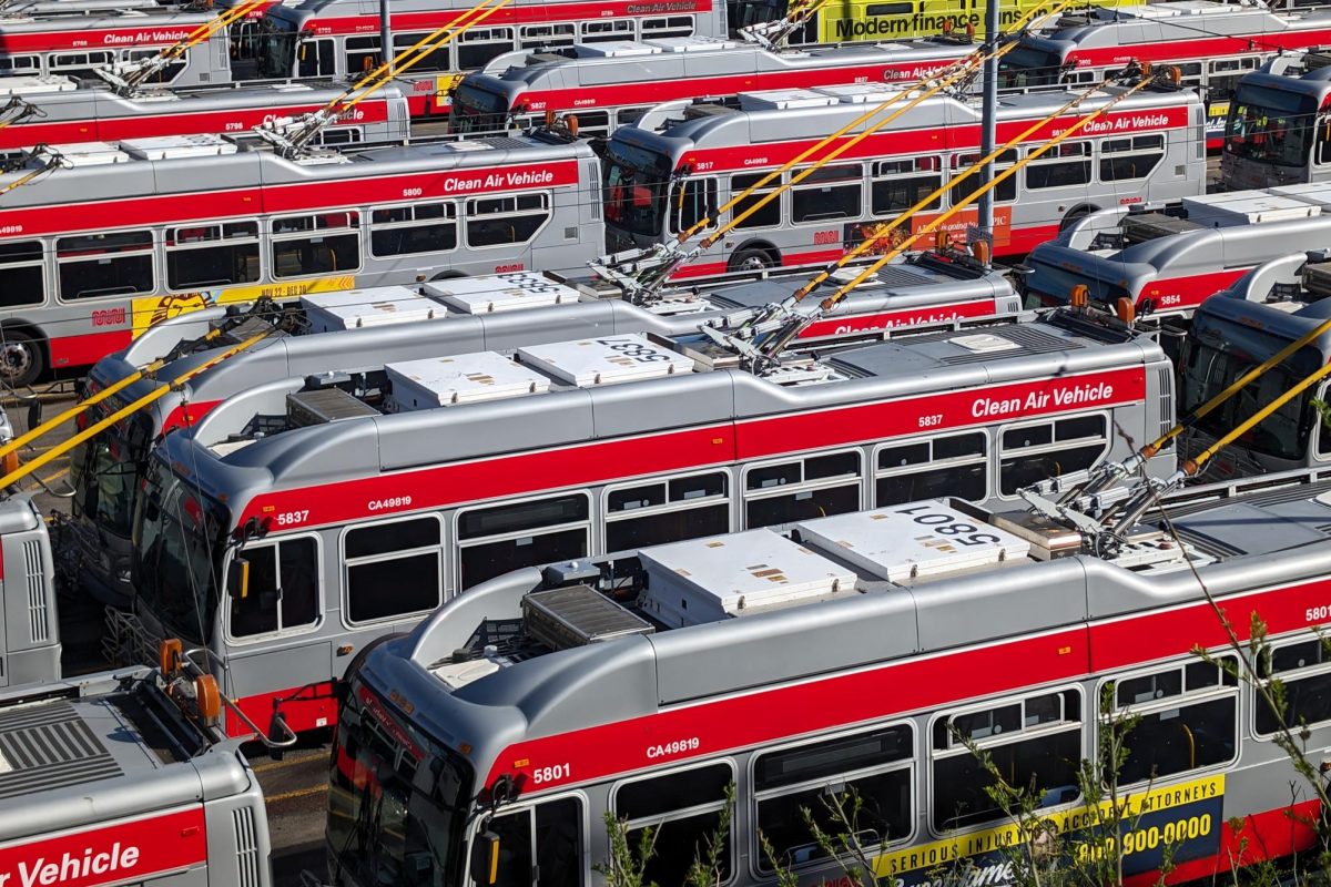
[[[390,24],[401,52],[457,20],[469,0],[394,0]],[[519,0],[469,28],[402,74],[413,116],[449,113],[458,78],[516,49],[571,47],[607,40],[724,37],[724,0]],[[311,0],[268,9],[257,41],[264,77],[355,77],[379,64],[378,7],[361,0]]]

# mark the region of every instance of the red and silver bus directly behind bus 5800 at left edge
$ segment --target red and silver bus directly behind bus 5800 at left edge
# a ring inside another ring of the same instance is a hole
[[[15,77],[15,80],[29,80]],[[0,90],[5,82],[0,80]],[[0,128],[0,153],[29,150],[36,145],[117,142],[194,136],[242,134],[281,117],[322,109],[346,92],[326,82],[264,84],[253,86],[198,88],[121,96],[109,89],[75,89],[24,94],[36,109]],[[395,86],[385,86],[357,102],[318,136],[319,145],[401,142],[410,136],[407,102]]]

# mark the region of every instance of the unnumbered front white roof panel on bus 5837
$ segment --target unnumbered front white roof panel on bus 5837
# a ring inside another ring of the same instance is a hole
[[[550,379],[495,351],[385,364],[394,412],[502,400],[550,390]]]

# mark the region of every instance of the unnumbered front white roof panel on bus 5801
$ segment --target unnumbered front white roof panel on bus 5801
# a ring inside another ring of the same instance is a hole
[[[639,605],[667,625],[696,625],[855,589],[855,573],[769,529],[639,552],[651,577]]]

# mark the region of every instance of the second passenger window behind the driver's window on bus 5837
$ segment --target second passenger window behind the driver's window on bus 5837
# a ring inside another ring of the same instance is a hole
[[[463,511],[458,516],[462,572],[457,590],[522,567],[583,557],[590,536],[586,493]]]

